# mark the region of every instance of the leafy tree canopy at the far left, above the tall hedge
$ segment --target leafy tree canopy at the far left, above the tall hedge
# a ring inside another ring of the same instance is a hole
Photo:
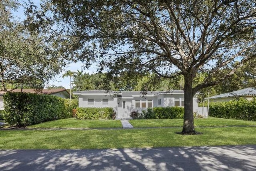
[[[43,84],[58,74],[65,60],[54,52],[45,36],[30,32],[16,21],[12,10],[20,4],[16,0],[0,1],[0,82],[6,84]]]

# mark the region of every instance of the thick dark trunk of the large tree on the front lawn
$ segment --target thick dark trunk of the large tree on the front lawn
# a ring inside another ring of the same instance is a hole
[[[196,134],[193,117],[193,88],[192,78],[184,76],[184,121],[182,134]]]

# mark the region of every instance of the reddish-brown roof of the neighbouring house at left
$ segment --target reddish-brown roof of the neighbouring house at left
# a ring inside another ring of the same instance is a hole
[[[21,89],[14,89],[12,90],[12,92],[20,92]],[[42,94],[55,94],[55,93],[60,93],[62,91],[66,91],[66,93],[69,94],[69,92],[64,89],[64,88],[52,88],[52,89],[42,89],[41,91],[36,91],[35,89],[22,89],[22,92],[24,93],[42,93]],[[0,91],[0,95],[3,95],[4,93],[6,93],[5,91]]]

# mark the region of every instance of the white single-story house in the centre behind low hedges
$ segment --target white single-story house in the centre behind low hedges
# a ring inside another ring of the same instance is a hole
[[[148,107],[184,106],[184,91],[106,91],[89,90],[75,91],[79,96],[79,107],[113,107],[117,119],[130,119],[132,111],[141,112]],[[198,107],[197,98],[193,100],[194,112],[202,114],[202,107]]]

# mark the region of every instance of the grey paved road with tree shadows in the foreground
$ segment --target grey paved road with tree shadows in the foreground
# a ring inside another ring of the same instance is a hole
[[[0,170],[255,171],[256,145],[102,150],[0,150]]]

